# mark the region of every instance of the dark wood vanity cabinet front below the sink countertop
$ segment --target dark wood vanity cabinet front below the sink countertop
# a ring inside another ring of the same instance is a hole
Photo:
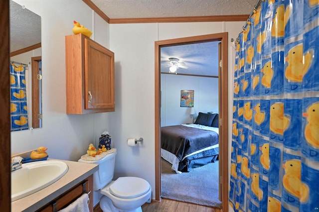
[[[64,194],[60,195],[58,198],[56,198],[37,212],[57,212],[63,208],[68,207],[84,193],[88,193],[89,191],[91,191],[89,194],[89,209],[90,212],[93,212],[93,175],[77,184]]]

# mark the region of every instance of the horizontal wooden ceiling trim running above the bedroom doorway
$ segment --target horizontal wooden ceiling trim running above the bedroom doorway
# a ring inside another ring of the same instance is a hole
[[[245,15],[211,15],[184,17],[150,17],[150,18],[111,18],[111,23],[177,23],[177,22],[218,22],[218,21],[247,21]]]

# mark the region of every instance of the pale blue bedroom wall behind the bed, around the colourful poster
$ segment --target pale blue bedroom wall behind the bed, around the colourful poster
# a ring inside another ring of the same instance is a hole
[[[195,122],[198,112],[218,112],[218,78],[160,75],[160,125],[191,123],[190,107],[180,106],[180,91],[194,90]]]

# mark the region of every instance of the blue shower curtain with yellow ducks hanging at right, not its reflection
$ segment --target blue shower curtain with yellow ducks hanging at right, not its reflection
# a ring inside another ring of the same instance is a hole
[[[319,0],[263,0],[236,42],[229,205],[319,211]]]

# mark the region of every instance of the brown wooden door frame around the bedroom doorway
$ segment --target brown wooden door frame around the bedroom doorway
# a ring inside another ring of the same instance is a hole
[[[155,42],[155,201],[160,191],[160,47],[221,41],[221,73],[218,85],[219,102],[219,173],[221,179],[222,210],[228,211],[228,33],[160,40]]]

